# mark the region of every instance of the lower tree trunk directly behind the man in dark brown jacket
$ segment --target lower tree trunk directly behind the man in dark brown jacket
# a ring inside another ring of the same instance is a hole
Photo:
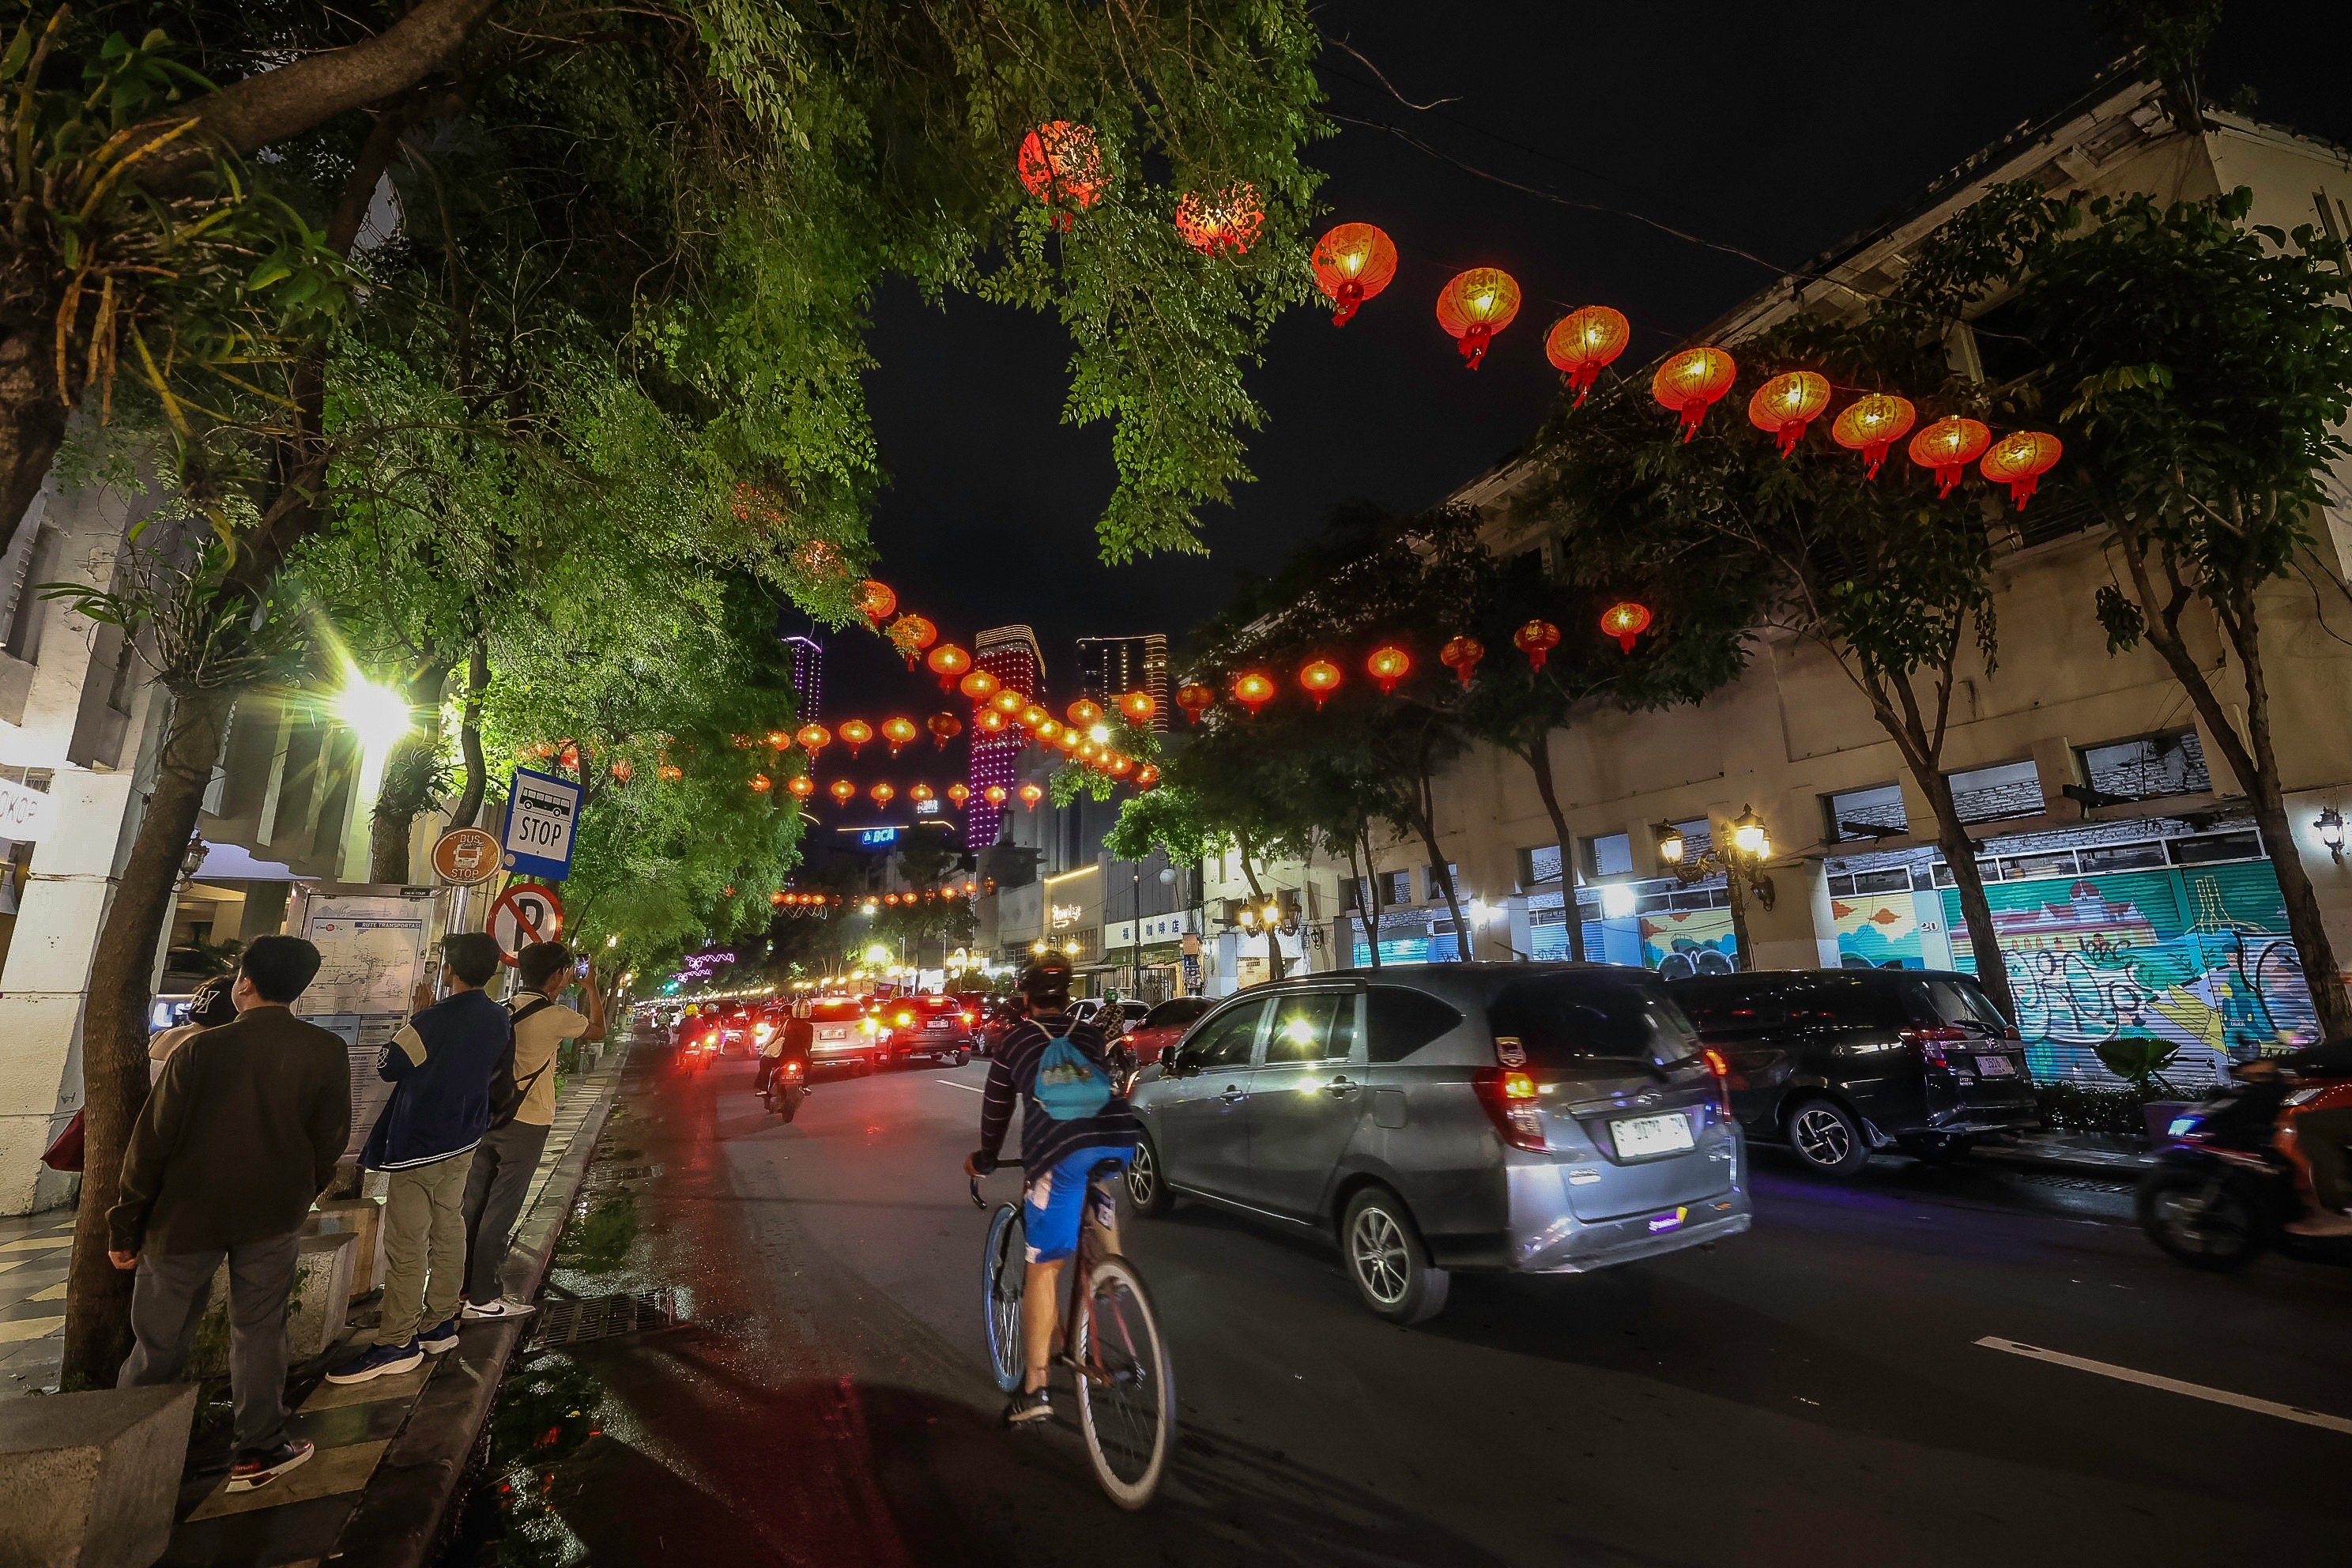
[[[132,1276],[106,1258],[106,1218],[122,1178],[122,1150],[148,1091],[148,990],[181,858],[195,832],[212,766],[221,757],[235,693],[200,691],[172,708],[155,790],[132,839],[122,884],[99,926],[82,1016],[82,1199],[73,1220],[61,1387],[113,1387],[132,1347]]]

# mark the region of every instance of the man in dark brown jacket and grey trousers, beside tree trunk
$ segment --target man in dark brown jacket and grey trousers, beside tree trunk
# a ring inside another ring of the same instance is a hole
[[[310,1458],[310,1443],[287,1439],[287,1295],[303,1215],[350,1138],[350,1056],[341,1037],[287,1011],[315,973],[310,943],[254,938],[230,987],[235,1023],[191,1037],[162,1065],[106,1213],[106,1255],[139,1269],[122,1387],[179,1380],[228,1260],[233,1493]]]

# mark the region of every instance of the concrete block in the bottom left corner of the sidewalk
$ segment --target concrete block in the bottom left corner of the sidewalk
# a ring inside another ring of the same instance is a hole
[[[186,1382],[0,1403],[0,1563],[148,1568],[193,1420]]]

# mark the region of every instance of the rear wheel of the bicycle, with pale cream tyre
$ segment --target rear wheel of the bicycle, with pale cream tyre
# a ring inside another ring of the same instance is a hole
[[[1176,1368],[1143,1276],[1124,1258],[1087,1274],[1070,1359],[1094,1476],[1122,1509],[1138,1509],[1160,1490],[1176,1443]]]

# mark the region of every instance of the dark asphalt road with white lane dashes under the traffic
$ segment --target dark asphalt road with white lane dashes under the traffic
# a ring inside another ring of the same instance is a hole
[[[1757,1161],[1757,1227],[1392,1328],[1336,1251],[1129,1220],[1181,1448],[1145,1514],[1007,1434],[957,1161],[983,1063],[818,1086],[630,1065],[600,1182],[691,1326],[583,1349],[555,1502],[600,1563],[2277,1563],[2352,1554],[2352,1272],[2164,1260],[2100,1182]],[[1009,1194],[1014,1178],[995,1178]],[[564,1279],[564,1276],[560,1276]],[[2013,1354],[2023,1342],[2098,1363]],[[2199,1385],[2213,1396],[2154,1387]],[[2312,1425],[2227,1403],[2274,1401]]]

